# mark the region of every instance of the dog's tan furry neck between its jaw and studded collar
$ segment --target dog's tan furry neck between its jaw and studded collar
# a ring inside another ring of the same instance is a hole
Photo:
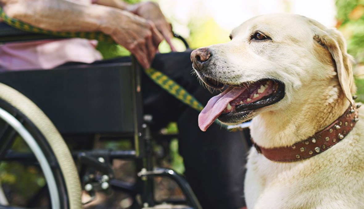
[[[285,110],[268,111],[256,116],[251,126],[254,142],[264,148],[288,147],[327,127],[344,113],[349,101],[341,90],[336,92],[336,97],[329,95],[330,89],[324,92],[328,94],[326,98],[331,99],[313,98],[305,105],[298,102]]]

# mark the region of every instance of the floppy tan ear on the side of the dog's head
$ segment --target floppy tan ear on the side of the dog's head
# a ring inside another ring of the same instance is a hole
[[[335,62],[341,89],[345,97],[354,104],[352,93],[355,93],[356,87],[351,67],[353,58],[347,53],[345,38],[334,28],[316,28],[314,33],[313,39],[330,52]]]

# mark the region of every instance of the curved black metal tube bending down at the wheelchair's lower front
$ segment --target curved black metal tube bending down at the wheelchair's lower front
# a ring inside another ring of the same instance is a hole
[[[166,176],[170,179],[173,179],[181,188],[183,194],[185,194],[187,204],[192,206],[194,209],[202,209],[197,197],[195,196],[190,185],[187,183],[186,179],[172,169],[155,168],[153,171],[141,171],[138,173],[138,176]]]

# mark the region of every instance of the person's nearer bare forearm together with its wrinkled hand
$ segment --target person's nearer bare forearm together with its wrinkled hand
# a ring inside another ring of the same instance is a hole
[[[110,35],[130,50],[143,67],[149,67],[163,37],[151,21],[103,5],[68,0],[0,0],[5,13],[34,26],[55,31]]]

